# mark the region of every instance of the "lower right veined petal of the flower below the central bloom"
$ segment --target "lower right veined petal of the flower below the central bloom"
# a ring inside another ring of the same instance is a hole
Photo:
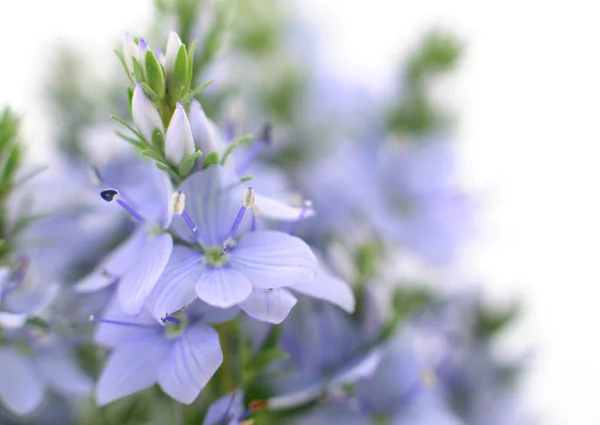
[[[174,399],[190,404],[223,362],[219,334],[198,323],[175,341],[158,370],[158,383]]]

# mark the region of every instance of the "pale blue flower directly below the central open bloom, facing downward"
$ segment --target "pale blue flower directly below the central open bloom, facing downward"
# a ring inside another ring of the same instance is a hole
[[[208,323],[225,322],[235,314],[198,301],[159,323],[145,311],[129,316],[118,303],[111,304],[104,318],[90,318],[100,322],[96,342],[112,348],[96,388],[98,403],[156,383],[175,400],[193,402],[223,361],[219,334]]]

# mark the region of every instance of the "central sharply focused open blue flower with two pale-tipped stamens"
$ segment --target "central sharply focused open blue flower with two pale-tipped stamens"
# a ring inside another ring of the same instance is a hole
[[[225,167],[197,172],[179,190],[174,209],[182,220],[174,220],[173,229],[191,246],[173,250],[149,310],[161,318],[198,297],[220,308],[239,304],[260,320],[271,314],[283,320],[296,299],[282,288],[314,279],[317,260],[308,245],[271,230],[238,238],[238,229],[250,225],[243,218],[253,214],[254,193]],[[255,218],[248,218],[255,228]]]

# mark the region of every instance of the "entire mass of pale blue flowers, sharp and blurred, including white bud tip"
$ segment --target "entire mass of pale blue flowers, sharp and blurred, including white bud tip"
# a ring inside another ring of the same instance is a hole
[[[470,233],[449,142],[359,138],[285,175],[260,160],[269,125],[207,117],[194,49],[127,35],[114,118],[137,154],[28,183],[46,214],[0,258],[0,423],[528,423],[491,344],[512,312],[395,270],[447,264]]]

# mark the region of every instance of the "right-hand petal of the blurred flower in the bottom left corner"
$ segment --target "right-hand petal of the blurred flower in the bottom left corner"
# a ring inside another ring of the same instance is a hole
[[[87,395],[93,388],[92,379],[75,362],[75,357],[63,348],[43,350],[35,358],[40,373],[57,390],[66,395]]]

